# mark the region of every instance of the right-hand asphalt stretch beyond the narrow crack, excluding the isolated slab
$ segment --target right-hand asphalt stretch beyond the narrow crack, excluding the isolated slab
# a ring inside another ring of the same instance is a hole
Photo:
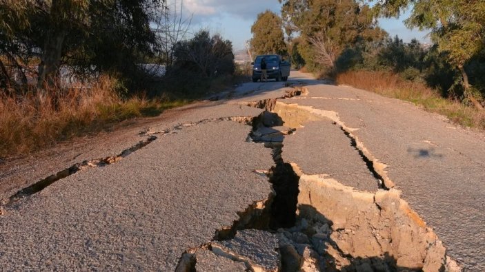
[[[283,102],[337,112],[357,129],[353,134],[373,156],[388,165],[388,177],[435,229],[448,255],[469,271],[485,271],[484,134],[352,87],[316,84],[308,90],[310,98]]]

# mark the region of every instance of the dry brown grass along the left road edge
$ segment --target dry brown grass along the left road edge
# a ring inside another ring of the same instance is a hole
[[[50,90],[42,101],[34,92],[0,93],[0,157],[28,154],[74,136],[112,127],[119,121],[156,116],[186,103],[143,97],[122,99],[113,81],[101,78],[91,88]]]

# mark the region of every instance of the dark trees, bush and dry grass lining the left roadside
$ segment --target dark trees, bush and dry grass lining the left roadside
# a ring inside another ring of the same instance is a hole
[[[181,1],[0,1],[0,159],[206,98],[244,79]]]

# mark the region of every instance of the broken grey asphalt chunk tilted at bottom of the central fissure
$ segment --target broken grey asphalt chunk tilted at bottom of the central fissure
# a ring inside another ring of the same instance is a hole
[[[232,240],[212,242],[211,246],[215,254],[244,262],[255,272],[279,271],[281,266],[277,236],[267,231],[237,231]]]

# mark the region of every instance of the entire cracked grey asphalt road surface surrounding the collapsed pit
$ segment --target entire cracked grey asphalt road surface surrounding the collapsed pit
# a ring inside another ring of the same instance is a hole
[[[298,72],[292,72],[290,81],[308,85],[309,94],[279,102],[336,112],[373,156],[388,165],[388,177],[435,228],[448,254],[469,271],[485,271],[484,134],[410,103],[326,85]],[[246,83],[230,94],[230,101],[190,105],[145,126],[156,133],[179,123],[257,116],[261,109],[239,103],[281,97],[287,89],[281,82]],[[10,207],[0,216],[3,269],[173,271],[186,249],[208,242],[216,229],[237,220],[238,211],[268,197],[268,179],[253,170],[267,170],[274,162],[270,149],[245,141],[249,126],[214,121],[176,132],[159,135],[119,163],[80,171]],[[108,139],[83,147],[88,151],[70,151],[80,157],[59,159],[54,153],[44,160],[48,170],[36,163],[7,173],[8,165],[3,165],[0,184],[15,176],[27,185],[73,161],[111,156],[104,152],[140,140],[135,130],[123,135],[116,144]],[[376,189],[350,140],[330,120],[297,128],[284,145],[286,163],[329,174],[359,190]],[[15,187],[8,188],[11,192]]]

